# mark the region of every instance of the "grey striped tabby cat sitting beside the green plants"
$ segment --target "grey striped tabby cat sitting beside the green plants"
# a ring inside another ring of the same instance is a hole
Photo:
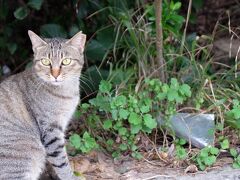
[[[0,84],[0,180],[36,180],[49,162],[62,180],[78,179],[64,131],[79,102],[86,35],[42,39],[28,31],[33,66]]]

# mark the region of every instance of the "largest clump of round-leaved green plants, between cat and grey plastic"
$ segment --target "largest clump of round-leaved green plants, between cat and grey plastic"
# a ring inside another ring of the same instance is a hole
[[[126,152],[134,158],[141,158],[136,137],[140,133],[149,134],[157,127],[156,114],[162,112],[168,117],[170,110],[176,112],[176,105],[191,96],[190,87],[174,78],[169,84],[147,79],[138,93],[128,90],[116,95],[113,87],[108,81],[101,81],[96,98],[91,99],[89,104],[82,104],[80,114],[87,117],[85,122],[88,127],[101,134],[96,136],[94,133],[98,142],[112,152],[114,158]],[[164,96],[159,98],[160,94]],[[168,94],[174,94],[174,97]],[[105,133],[111,139],[104,139]],[[183,158],[186,152],[184,154],[184,149],[180,149],[182,140],[179,143],[178,154]]]

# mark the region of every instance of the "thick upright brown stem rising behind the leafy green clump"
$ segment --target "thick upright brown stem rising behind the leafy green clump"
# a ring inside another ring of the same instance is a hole
[[[158,76],[162,82],[166,82],[165,76],[165,60],[163,58],[163,33],[162,33],[162,0],[155,0],[155,14],[156,14],[156,65],[162,67]],[[158,68],[157,67],[157,68]],[[156,68],[156,67],[155,67]]]

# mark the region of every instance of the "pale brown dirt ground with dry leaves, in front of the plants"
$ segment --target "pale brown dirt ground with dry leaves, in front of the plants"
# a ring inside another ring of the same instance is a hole
[[[114,161],[100,152],[70,159],[75,171],[86,180],[240,180],[240,170],[232,169],[231,158],[221,158],[214,167],[198,171],[195,165],[168,168],[159,160],[124,158]],[[41,180],[52,180],[44,174]]]

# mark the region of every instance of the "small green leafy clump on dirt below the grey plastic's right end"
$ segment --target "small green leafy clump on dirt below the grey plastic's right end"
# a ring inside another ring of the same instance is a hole
[[[205,147],[201,149],[200,153],[195,157],[195,162],[197,163],[200,170],[205,170],[206,167],[212,166],[219,154],[219,149],[216,147]]]

